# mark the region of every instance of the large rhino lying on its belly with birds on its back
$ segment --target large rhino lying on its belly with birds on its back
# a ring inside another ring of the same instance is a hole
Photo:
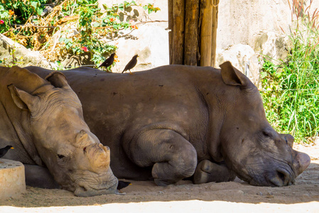
[[[168,65],[134,75],[84,67],[63,73],[90,129],[111,148],[117,178],[168,185],[237,175],[252,185],[283,186],[310,164],[292,149],[293,136],[270,126],[258,89],[230,62],[221,70]]]

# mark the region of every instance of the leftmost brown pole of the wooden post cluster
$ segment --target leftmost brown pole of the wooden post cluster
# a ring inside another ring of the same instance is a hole
[[[185,5],[184,0],[168,0],[168,8],[171,14],[168,18],[171,26],[171,43],[170,43],[170,64],[183,65],[184,61],[184,21]]]

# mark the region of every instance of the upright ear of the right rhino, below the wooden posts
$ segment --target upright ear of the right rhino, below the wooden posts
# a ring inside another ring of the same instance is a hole
[[[233,67],[231,62],[223,62],[220,65],[220,68],[222,68],[222,80],[225,84],[233,86],[247,85],[247,78],[244,74],[242,74],[242,72]]]

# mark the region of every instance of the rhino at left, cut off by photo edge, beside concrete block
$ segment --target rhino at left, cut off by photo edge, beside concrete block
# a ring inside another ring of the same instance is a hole
[[[5,158],[25,163],[26,182],[33,186],[55,187],[53,175],[77,196],[116,193],[109,148],[85,123],[77,95],[62,73],[45,79],[0,67],[0,147],[14,147]]]

